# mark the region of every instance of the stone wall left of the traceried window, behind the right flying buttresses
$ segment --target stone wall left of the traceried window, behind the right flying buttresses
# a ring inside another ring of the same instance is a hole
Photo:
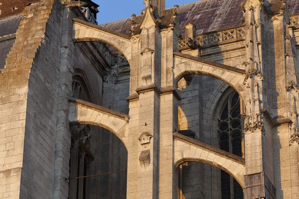
[[[245,41],[204,47],[200,57],[217,63],[245,69]],[[188,80],[186,80],[188,79]],[[214,115],[221,96],[229,87],[208,76],[190,75],[178,83],[182,98],[179,105],[179,130],[191,129],[194,139],[218,147]],[[218,110],[219,111],[219,110]],[[185,163],[181,166],[182,196],[179,199],[213,198],[220,195],[220,169],[203,163]]]

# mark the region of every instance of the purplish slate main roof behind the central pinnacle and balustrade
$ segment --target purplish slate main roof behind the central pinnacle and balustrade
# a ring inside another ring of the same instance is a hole
[[[181,34],[184,35],[184,26],[188,23],[196,25],[196,34],[231,28],[243,25],[241,17],[243,12],[241,3],[243,0],[201,0],[180,5],[178,16]],[[299,13],[299,0],[287,0],[290,14]],[[130,29],[129,19],[122,19],[102,26],[126,33]]]

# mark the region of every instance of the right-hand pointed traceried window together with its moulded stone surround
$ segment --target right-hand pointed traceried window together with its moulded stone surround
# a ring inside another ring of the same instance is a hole
[[[210,123],[211,143],[217,148],[244,158],[243,145],[243,102],[239,94],[231,87],[227,87],[217,101]],[[218,172],[221,184],[221,198],[243,198],[243,189],[227,171]]]

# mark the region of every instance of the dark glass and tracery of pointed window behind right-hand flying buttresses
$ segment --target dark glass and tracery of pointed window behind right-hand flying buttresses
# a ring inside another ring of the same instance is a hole
[[[242,157],[242,118],[240,98],[231,92],[218,116],[219,148]],[[243,199],[243,189],[228,173],[221,170],[221,198]]]

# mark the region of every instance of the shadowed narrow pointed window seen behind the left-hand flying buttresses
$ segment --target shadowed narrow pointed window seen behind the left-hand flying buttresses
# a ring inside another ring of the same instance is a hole
[[[73,97],[90,101],[84,82],[74,78],[72,83]],[[93,159],[92,131],[90,125],[75,125],[71,127],[71,158],[69,199],[89,199],[88,178],[77,178],[89,175],[89,165]]]

